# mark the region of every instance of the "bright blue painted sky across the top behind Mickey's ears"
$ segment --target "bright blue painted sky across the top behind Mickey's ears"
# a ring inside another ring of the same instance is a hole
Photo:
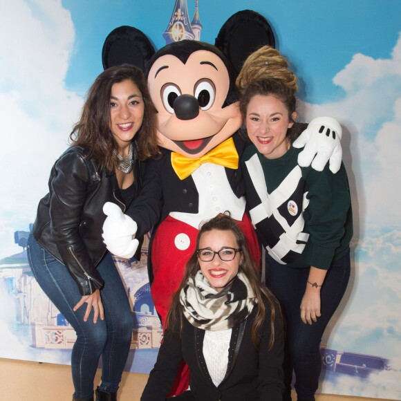
[[[304,100],[325,102],[344,92],[333,77],[355,53],[373,58],[389,57],[401,19],[397,0],[353,1],[243,1],[201,0],[199,12],[204,29],[201,39],[214,43],[221,25],[239,10],[252,9],[268,19],[279,50],[296,67],[307,84]],[[63,0],[74,21],[76,42],[72,65],[66,75],[68,86],[85,91],[88,82],[100,73],[104,38],[117,26],[130,25],[145,32],[156,48],[165,45],[162,32],[174,0],[125,0],[111,3]],[[189,15],[195,1],[187,1]],[[156,15],[154,10],[160,10]]]

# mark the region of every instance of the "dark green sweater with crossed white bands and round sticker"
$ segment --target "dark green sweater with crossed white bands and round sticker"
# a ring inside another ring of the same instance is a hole
[[[328,269],[353,236],[346,170],[299,167],[302,149],[266,159],[254,145],[243,154],[246,198],[259,240],[273,259],[295,268]]]

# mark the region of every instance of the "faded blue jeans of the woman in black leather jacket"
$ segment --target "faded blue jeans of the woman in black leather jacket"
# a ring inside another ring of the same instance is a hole
[[[28,239],[28,261],[39,286],[73,326],[77,340],[71,353],[71,370],[76,398],[93,396],[93,380],[102,357],[102,384],[107,393],[118,390],[122,371],[129,353],[133,319],[127,292],[111,254],[97,265],[104,280],[100,291],[104,320],[93,323],[93,308],[88,321],[84,321],[86,304],[76,312],[73,307],[82,298],[66,266],[57,261],[39,245],[32,234]]]

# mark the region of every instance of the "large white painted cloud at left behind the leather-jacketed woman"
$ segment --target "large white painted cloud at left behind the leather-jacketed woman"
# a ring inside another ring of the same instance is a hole
[[[10,168],[1,175],[0,259],[21,252],[14,232],[33,222],[50,167],[66,148],[82,105],[64,85],[74,40],[61,1],[1,3],[0,156]]]

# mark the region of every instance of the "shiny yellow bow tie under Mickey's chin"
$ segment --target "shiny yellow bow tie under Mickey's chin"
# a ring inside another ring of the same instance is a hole
[[[171,165],[180,180],[189,177],[203,163],[214,163],[230,169],[238,169],[239,157],[234,140],[228,138],[200,158],[187,158],[179,153],[171,153]]]

